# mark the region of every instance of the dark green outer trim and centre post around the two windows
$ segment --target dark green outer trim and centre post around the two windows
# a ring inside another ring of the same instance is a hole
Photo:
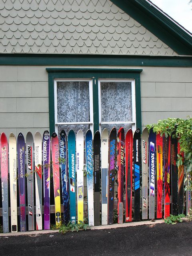
[[[141,129],[140,73],[142,69],[107,68],[46,68],[49,86],[49,125],[50,134],[55,131],[54,80],[59,78],[90,78],[93,81],[93,121],[94,132],[99,129],[98,79],[122,78],[135,80],[136,127]]]

